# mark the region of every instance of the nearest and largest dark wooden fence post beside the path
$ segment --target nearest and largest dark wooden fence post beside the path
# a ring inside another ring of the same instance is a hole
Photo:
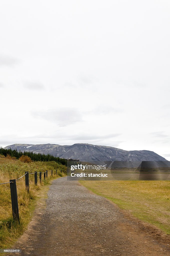
[[[10,193],[11,193],[11,202],[12,202],[12,215],[13,215],[13,218],[19,222],[16,179],[10,179],[9,181],[11,182]]]

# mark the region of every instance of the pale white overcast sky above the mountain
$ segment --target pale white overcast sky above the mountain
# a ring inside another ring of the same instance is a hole
[[[0,145],[170,160],[169,0],[1,1]]]

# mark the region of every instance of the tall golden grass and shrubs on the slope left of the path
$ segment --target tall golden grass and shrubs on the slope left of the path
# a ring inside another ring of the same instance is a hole
[[[48,172],[48,178],[46,180],[43,179],[44,176],[42,175],[41,183],[39,182],[39,175],[37,175],[37,186],[34,185],[34,174],[30,174],[29,193],[25,189],[25,177],[16,182],[20,224],[13,221],[12,218],[9,184],[0,185],[0,248],[9,248],[26,229],[35,207],[35,199],[44,186],[49,183],[50,179],[57,178],[54,175],[56,169],[58,170],[58,177],[64,175],[64,172],[66,172],[66,166],[56,162],[23,163],[16,159],[0,156],[0,183],[9,182],[9,179],[17,179],[25,174],[25,171],[33,173],[35,171],[44,172],[45,170],[53,170],[53,177],[50,176],[51,172]]]

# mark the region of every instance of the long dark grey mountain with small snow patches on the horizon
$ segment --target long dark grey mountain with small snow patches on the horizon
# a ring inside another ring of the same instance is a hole
[[[99,146],[85,143],[73,145],[58,144],[13,144],[6,146],[17,151],[32,151],[59,156],[66,159],[79,159],[84,162],[94,161],[167,161],[164,157],[148,150],[126,151],[115,147]]]

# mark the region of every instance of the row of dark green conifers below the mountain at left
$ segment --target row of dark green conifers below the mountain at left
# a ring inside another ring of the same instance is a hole
[[[33,153],[33,152],[21,152],[21,151],[17,151],[16,150],[12,150],[11,148],[9,149],[4,149],[4,148],[0,148],[0,155],[10,155],[11,157],[16,157],[16,159],[19,159],[22,155],[24,156],[29,156],[31,158],[32,161],[42,161],[42,162],[49,162],[49,161],[55,161],[59,164],[63,164],[67,166],[67,159],[64,158],[60,158],[60,157],[56,157],[50,154],[41,154],[41,153]]]

